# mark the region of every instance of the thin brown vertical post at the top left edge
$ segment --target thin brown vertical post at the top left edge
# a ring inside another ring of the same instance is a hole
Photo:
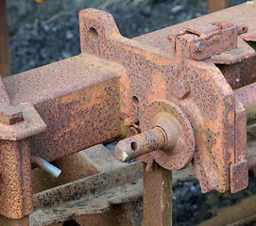
[[[6,0],[0,0],[0,74],[10,75],[9,65],[9,34]]]

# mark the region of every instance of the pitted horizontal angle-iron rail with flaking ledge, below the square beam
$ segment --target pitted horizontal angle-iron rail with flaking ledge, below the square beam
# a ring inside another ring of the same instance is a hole
[[[141,177],[142,165],[135,162],[38,193],[33,196],[36,211],[30,216],[30,225],[99,214],[111,204],[136,200],[142,196]]]

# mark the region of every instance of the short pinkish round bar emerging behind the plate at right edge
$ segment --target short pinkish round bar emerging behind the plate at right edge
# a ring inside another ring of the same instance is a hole
[[[247,122],[256,120],[256,83],[235,89],[235,94],[247,109]]]

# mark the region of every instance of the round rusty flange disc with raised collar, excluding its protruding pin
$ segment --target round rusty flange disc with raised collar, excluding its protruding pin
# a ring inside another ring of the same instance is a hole
[[[195,153],[195,137],[190,121],[178,105],[167,100],[156,100],[145,107],[142,132],[161,127],[169,142],[162,150],[140,157],[148,162],[152,157],[162,168],[178,170],[187,166]],[[151,157],[150,157],[150,155]]]

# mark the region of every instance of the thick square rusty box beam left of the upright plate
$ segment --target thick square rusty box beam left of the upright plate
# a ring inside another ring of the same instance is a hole
[[[52,162],[120,135],[122,73],[112,67],[82,54],[4,78],[10,101],[35,105],[47,125],[31,137],[32,155]]]

